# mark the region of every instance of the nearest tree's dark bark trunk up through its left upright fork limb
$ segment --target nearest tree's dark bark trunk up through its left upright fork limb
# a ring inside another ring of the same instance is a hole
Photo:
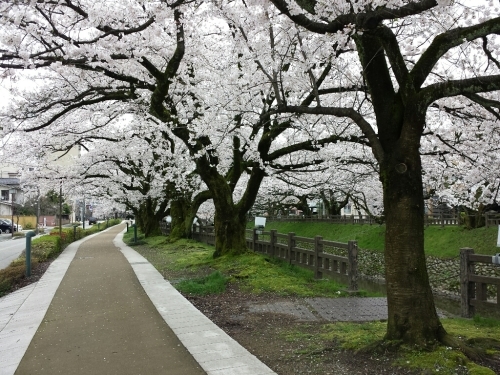
[[[394,90],[381,39],[363,34],[357,46],[379,131],[380,143],[372,150],[380,165],[386,217],[386,339],[425,347],[446,335],[436,313],[424,253],[419,149],[427,106],[411,84]]]

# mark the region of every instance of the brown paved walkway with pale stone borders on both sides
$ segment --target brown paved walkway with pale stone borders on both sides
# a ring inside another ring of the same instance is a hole
[[[0,374],[274,374],[122,241],[70,246],[0,299]]]

